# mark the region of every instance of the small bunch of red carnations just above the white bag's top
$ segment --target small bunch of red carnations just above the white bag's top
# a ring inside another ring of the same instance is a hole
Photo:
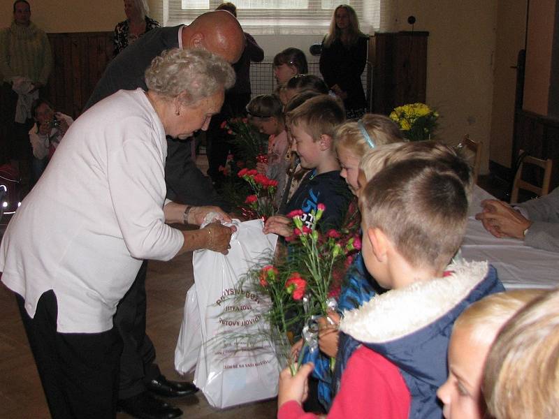
[[[273,203],[277,180],[268,179],[266,175],[256,172],[255,169],[243,168],[237,176],[244,179],[250,185],[252,194],[247,196],[245,202],[240,205],[240,210],[246,219],[263,218],[264,221],[276,212]]]

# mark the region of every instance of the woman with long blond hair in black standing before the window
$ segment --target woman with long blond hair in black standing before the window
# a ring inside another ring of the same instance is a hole
[[[361,118],[367,108],[361,74],[367,61],[368,36],[359,30],[357,14],[342,4],[334,10],[330,31],[322,41],[320,73],[342,98],[347,119]]]

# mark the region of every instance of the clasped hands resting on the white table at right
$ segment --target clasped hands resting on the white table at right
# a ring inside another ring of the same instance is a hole
[[[532,221],[510,205],[496,199],[481,201],[483,212],[476,214],[485,229],[495,237],[514,237],[524,239],[524,231],[532,225]]]

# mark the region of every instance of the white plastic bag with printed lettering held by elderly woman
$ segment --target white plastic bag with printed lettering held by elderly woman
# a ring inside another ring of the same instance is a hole
[[[239,282],[275,250],[277,235],[265,235],[262,220],[235,220],[235,226],[228,255],[204,250],[193,256],[203,341],[194,383],[219,408],[275,397],[279,374],[275,348],[259,332],[268,329],[269,302]]]

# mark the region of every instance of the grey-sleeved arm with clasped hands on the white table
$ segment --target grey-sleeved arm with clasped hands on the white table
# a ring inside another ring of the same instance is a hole
[[[495,199],[481,201],[481,207],[476,219],[495,237],[514,237],[527,246],[559,252],[559,188],[514,207]]]

